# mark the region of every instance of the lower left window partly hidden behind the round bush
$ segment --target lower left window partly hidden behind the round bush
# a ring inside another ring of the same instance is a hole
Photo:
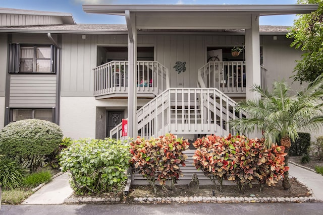
[[[12,109],[11,119],[11,122],[16,122],[23,119],[42,119],[53,122],[53,109]]]

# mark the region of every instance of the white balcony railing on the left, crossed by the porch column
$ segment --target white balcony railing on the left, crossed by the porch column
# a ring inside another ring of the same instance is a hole
[[[94,71],[94,96],[128,93],[128,61],[111,61]],[[137,61],[137,93],[158,95],[169,88],[169,71],[157,61]]]

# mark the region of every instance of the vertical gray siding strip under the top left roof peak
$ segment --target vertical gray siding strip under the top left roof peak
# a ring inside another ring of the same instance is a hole
[[[60,25],[64,24],[60,17],[0,14],[0,26]]]

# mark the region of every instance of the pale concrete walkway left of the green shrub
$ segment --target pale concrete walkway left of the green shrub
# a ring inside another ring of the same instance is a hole
[[[22,204],[62,204],[73,193],[69,184],[69,175],[64,173],[45,184]]]

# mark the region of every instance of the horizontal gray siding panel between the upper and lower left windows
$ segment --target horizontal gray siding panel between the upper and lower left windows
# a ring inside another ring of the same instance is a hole
[[[11,75],[11,108],[56,106],[56,75]]]

